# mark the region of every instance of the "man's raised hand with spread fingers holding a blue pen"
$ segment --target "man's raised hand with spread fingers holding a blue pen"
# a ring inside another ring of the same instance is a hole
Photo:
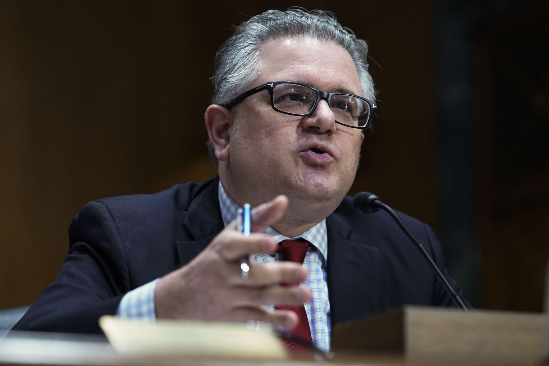
[[[311,291],[298,286],[277,287],[275,282],[295,283],[307,278],[301,264],[277,262],[250,264],[248,279],[240,273],[240,257],[273,253],[278,245],[261,231],[276,223],[288,206],[278,196],[252,210],[252,231],[245,237],[233,221],[196,258],[160,279],[155,289],[157,318],[247,321],[261,320],[293,329],[298,317],[289,310],[269,310],[267,305],[300,305]]]

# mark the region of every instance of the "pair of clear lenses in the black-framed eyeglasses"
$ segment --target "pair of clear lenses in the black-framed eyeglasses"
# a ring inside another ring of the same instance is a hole
[[[295,84],[277,84],[273,89],[273,103],[282,112],[307,114],[315,105],[316,92]],[[348,94],[336,94],[330,98],[330,108],[335,120],[351,126],[362,127],[368,122],[369,105],[362,99]]]

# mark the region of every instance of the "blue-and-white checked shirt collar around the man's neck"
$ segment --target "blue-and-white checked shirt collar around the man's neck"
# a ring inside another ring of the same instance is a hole
[[[223,224],[227,226],[229,223],[231,223],[231,221],[237,219],[238,209],[240,208],[240,206],[238,206],[238,203],[234,202],[233,199],[229,197],[229,195],[227,195],[225,188],[223,188],[223,185],[221,184],[221,180],[219,181],[218,192],[219,206],[221,208],[221,217],[223,218]],[[320,223],[316,224],[312,228],[302,232],[302,234],[294,237],[284,236],[275,229],[271,228],[271,226],[267,226],[267,228],[263,230],[263,233],[272,236],[277,243],[283,240],[293,240],[298,238],[305,239],[318,249],[318,251],[324,257],[324,260],[327,259],[328,236],[326,232],[326,219],[322,220]]]

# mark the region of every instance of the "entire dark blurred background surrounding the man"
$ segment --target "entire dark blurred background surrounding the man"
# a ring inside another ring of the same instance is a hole
[[[93,199],[216,173],[214,54],[264,10],[332,10],[378,112],[350,194],[433,226],[477,307],[540,311],[549,255],[549,3],[0,1],[0,308],[30,304]],[[410,244],[412,245],[412,244]]]

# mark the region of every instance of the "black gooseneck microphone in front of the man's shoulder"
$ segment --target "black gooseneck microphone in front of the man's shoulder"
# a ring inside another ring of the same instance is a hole
[[[410,240],[418,247],[419,251],[423,253],[423,256],[427,259],[431,267],[433,267],[433,269],[435,270],[436,275],[442,281],[446,289],[451,293],[453,300],[455,300],[457,304],[461,306],[463,310],[465,310],[466,313],[469,312],[467,310],[467,307],[461,300],[461,297],[457,295],[456,291],[454,291],[452,286],[450,286],[450,284],[448,283],[448,281],[446,280],[445,276],[442,274],[440,269],[436,267],[436,264],[433,258],[429,256],[429,253],[427,253],[423,245],[416,239],[415,236],[413,236],[410,229],[407,228],[407,226],[400,219],[399,215],[397,215],[392,208],[387,206],[385,203],[381,202],[381,199],[379,199],[378,196],[374,195],[371,192],[357,193],[355,195],[355,198],[352,200],[352,203],[357,210],[363,213],[373,213],[373,212],[379,211],[380,209],[385,210],[396,221],[396,223],[399,224],[402,231],[404,231],[406,236],[408,236],[408,238],[410,238]]]

